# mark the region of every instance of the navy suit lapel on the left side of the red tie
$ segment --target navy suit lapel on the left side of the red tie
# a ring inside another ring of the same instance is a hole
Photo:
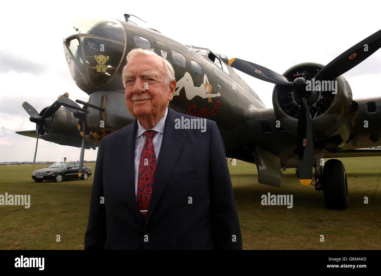
[[[135,135],[138,123],[135,120],[132,127],[122,133],[122,139],[117,144],[118,165],[120,172],[120,183],[122,191],[127,199],[127,204],[135,215],[136,219],[144,225],[144,220],[140,214],[138,203],[135,196]]]

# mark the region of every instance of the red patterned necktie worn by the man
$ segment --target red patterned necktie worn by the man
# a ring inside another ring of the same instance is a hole
[[[138,200],[140,213],[144,220],[147,218],[149,200],[152,193],[152,183],[154,183],[156,171],[156,155],[154,143],[152,142],[155,132],[156,131],[154,130],[147,130],[144,132],[146,142],[144,142],[139,161],[138,191],[136,199]]]

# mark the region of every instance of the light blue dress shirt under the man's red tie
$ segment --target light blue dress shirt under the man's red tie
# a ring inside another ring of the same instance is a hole
[[[150,128],[156,131],[155,136],[152,139],[152,142],[154,142],[156,163],[159,158],[160,147],[162,146],[165,119],[166,119],[167,113],[168,113],[168,107],[165,111],[163,118],[161,118],[160,121],[158,121],[158,123],[153,128]],[[138,120],[138,131],[136,131],[136,138],[135,138],[135,196],[137,196],[137,193],[138,193],[138,173],[139,173],[140,156],[142,153],[144,142],[146,142],[146,136],[144,136],[144,132],[150,129],[143,128],[142,124]]]

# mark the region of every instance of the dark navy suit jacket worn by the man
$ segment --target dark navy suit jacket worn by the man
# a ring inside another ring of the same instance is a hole
[[[134,185],[137,120],[101,140],[85,249],[242,249],[217,125],[175,129],[181,116],[195,118],[168,108],[146,221]]]

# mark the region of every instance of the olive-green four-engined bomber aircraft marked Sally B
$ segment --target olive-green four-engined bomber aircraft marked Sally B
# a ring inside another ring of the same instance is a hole
[[[131,23],[129,17],[74,26],[75,34],[63,41],[64,53],[75,83],[89,95],[88,102],[74,102],[65,93],[39,113],[24,102],[37,132],[18,134],[36,137],[37,142],[42,138],[81,147],[82,168],[85,148],[95,149],[102,137],[135,120],[126,107],[122,84],[126,55],[137,47],[154,49],[175,71],[177,85],[170,107],[216,121],[227,158],[255,163],[258,182],[276,187],[286,168],[296,168],[301,184],[323,191],[328,209],[348,207],[343,163],[330,159],[323,164],[323,157],[381,155],[379,150],[365,149],[381,145],[380,97],[352,99],[342,75],[381,47],[381,30],[325,66],[306,62],[280,75],[208,48],[182,45]],[[273,108],[266,108],[233,68],[274,83]]]

